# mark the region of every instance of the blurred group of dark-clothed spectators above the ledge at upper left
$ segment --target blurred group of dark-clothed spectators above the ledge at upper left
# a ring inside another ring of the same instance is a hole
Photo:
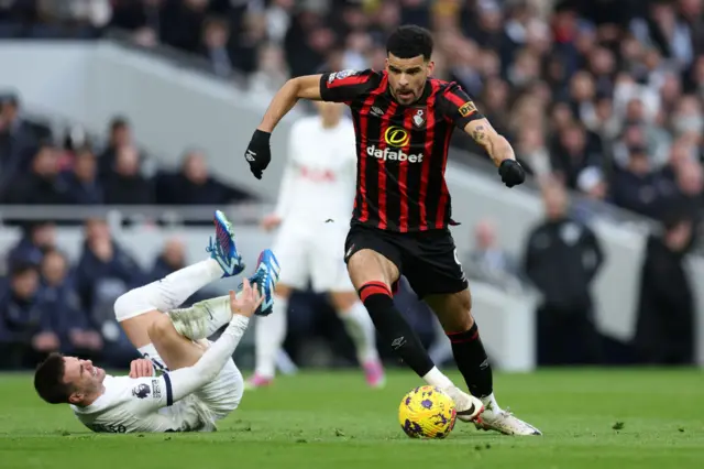
[[[151,170],[128,120],[110,123],[105,144],[80,128],[53,135],[0,94],[0,204],[226,205],[250,196],[208,171],[206,154],[184,153],[179,168]]]

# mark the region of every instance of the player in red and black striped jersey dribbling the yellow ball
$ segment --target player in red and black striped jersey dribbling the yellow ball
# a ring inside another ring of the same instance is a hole
[[[388,37],[386,50],[383,72],[343,70],[288,80],[244,156],[261,178],[271,161],[271,132],[298,99],[346,103],[356,132],[358,184],[345,258],[376,329],[419,377],[452,396],[460,419],[509,435],[539,435],[494,399],[492,368],[449,230],[453,221],[444,170],[454,128],[484,146],[506,186],[521,184],[525,172],[510,144],[468,94],[455,83],[431,77],[432,37],[427,30],[402,26]],[[450,337],[472,396],[436,368],[395,308],[392,292],[402,274]]]

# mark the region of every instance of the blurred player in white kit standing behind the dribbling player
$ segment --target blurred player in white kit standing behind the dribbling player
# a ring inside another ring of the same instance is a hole
[[[274,379],[276,355],[286,338],[288,298],[309,280],[315,292],[330,295],[367,383],[384,383],[374,325],[344,264],[356,182],[354,126],[343,117],[343,105],[315,105],[318,116],[298,120],[290,130],[278,204],[262,222],[267,231],[278,228],[274,251],[286,270],[276,285],[275,313],[256,321],[256,364],[248,388],[265,386]]]

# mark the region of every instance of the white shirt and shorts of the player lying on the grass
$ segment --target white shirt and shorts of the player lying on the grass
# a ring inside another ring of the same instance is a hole
[[[193,367],[161,377],[106,375],[105,392],[86,407],[72,405],[78,419],[98,433],[212,432],[235,410],[244,389],[232,360],[249,320],[230,326]]]

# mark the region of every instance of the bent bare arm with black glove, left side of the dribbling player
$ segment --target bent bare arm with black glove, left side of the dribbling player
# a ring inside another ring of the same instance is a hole
[[[262,178],[264,170],[272,161],[270,139],[278,122],[296,106],[299,99],[322,100],[320,96],[320,78],[321,75],[292,78],[286,81],[286,85],[272,99],[244,153],[250,170],[257,179]]]

